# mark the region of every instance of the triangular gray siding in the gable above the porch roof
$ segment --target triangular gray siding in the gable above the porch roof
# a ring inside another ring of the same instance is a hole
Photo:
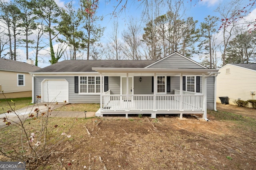
[[[150,66],[149,68],[203,68],[202,66],[185,59],[177,54],[166,57],[162,61]]]

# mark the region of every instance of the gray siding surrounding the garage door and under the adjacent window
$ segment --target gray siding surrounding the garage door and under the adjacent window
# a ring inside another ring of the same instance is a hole
[[[35,101],[37,100],[36,96],[41,96],[41,82],[44,79],[66,79],[68,81],[68,95],[69,103],[100,103],[100,95],[79,95],[79,93],[75,93],[75,81],[74,76],[63,76],[63,77],[34,77],[34,91],[35,91]],[[41,102],[41,100],[38,100]]]

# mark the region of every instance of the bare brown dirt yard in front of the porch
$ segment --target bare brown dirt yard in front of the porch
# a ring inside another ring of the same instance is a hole
[[[256,118],[256,109],[221,104],[217,109]],[[255,169],[256,129],[217,121],[216,114],[209,113],[208,122],[164,115],[78,119],[72,138],[38,169]]]

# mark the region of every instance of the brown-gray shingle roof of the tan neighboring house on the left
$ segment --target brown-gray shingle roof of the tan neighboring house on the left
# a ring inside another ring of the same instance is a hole
[[[34,72],[38,69],[40,69],[40,67],[32,64],[0,58],[0,70],[2,71]]]

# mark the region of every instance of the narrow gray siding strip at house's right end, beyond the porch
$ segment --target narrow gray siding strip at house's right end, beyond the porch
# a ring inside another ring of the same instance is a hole
[[[207,78],[207,109],[214,109],[214,76]]]

